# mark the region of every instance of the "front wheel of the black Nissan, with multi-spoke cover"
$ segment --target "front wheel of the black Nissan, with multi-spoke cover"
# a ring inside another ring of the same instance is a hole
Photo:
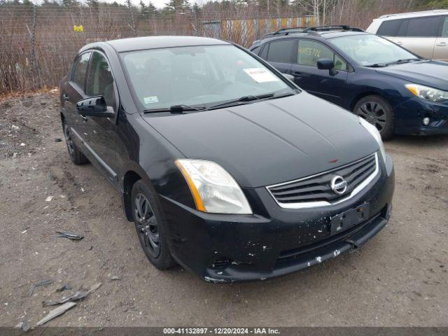
[[[155,193],[144,181],[134,183],[132,216],[141,248],[148,260],[157,269],[168,269],[176,265],[176,262],[169,251],[165,216],[155,197]]]

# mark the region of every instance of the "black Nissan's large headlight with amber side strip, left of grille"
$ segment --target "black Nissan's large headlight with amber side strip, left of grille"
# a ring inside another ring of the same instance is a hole
[[[213,214],[252,214],[237,181],[215,162],[176,160],[195,199],[196,209]]]

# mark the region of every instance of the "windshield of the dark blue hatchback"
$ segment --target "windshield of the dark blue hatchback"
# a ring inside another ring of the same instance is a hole
[[[407,50],[376,35],[342,36],[332,38],[331,43],[349,55],[355,62],[365,66],[418,59]]]

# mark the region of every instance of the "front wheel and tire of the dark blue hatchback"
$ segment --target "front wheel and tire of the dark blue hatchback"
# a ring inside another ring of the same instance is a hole
[[[383,140],[393,137],[395,116],[391,106],[377,95],[363,97],[356,103],[353,113],[377,127]]]

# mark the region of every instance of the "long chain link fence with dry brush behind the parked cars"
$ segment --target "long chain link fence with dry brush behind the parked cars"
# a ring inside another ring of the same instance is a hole
[[[262,1],[214,1],[163,9],[143,1],[139,7],[132,6],[130,0],[127,5],[87,0],[89,6],[80,6],[76,0],[60,0],[60,4],[44,0],[40,6],[29,0],[4,1],[0,0],[0,95],[58,85],[80,47],[94,41],[193,35],[248,47],[262,34],[280,28],[318,22],[365,28],[378,15],[409,9],[409,3],[401,0],[367,4],[364,0],[267,0],[265,6]],[[305,6],[313,3],[321,3],[318,12]]]

